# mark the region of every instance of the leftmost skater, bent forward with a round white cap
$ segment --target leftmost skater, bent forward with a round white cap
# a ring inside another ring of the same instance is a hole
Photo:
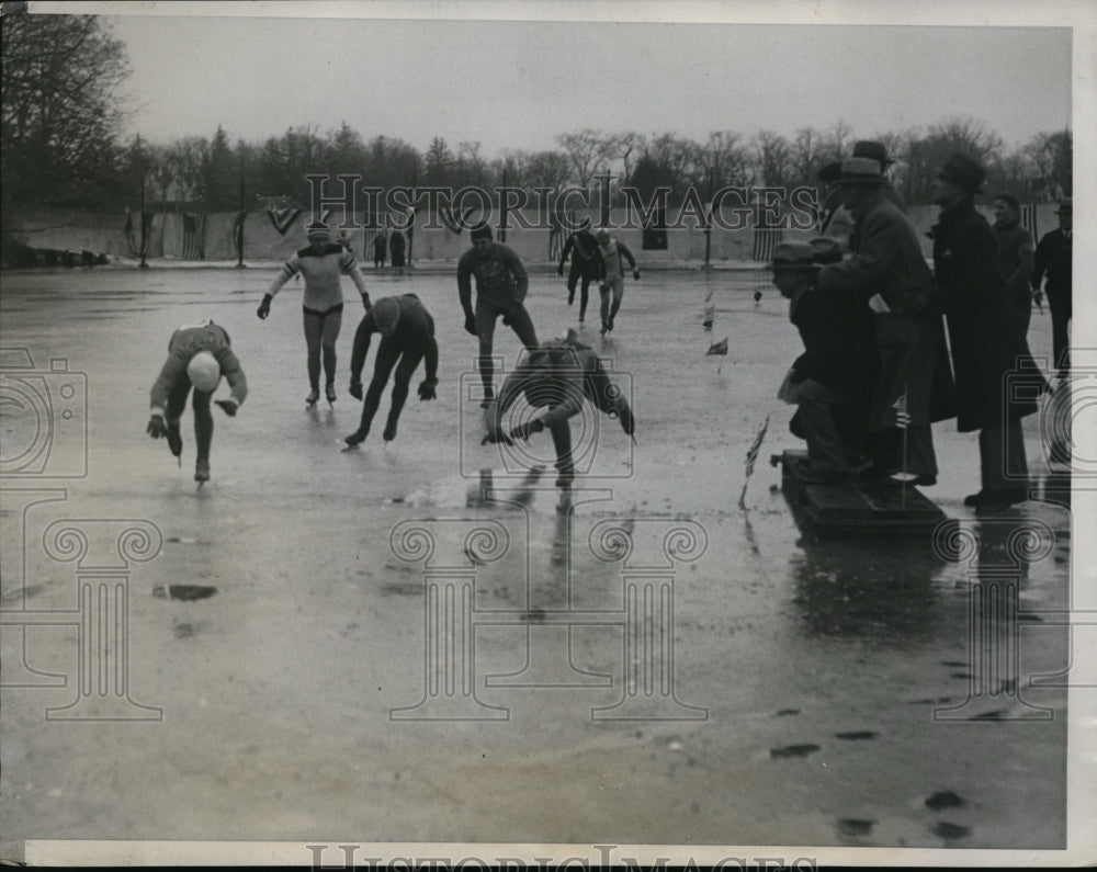
[[[192,405],[197,449],[194,480],[199,484],[210,480],[210,445],[213,442],[210,400],[222,375],[233,393],[229,399],[217,400],[217,405],[231,418],[248,396],[248,381],[240,361],[233,353],[225,328],[203,320],[183,325],[171,335],[168,360],[152,385],[151,415],[146,430],[152,439],[167,437],[168,448],[176,457],[183,453],[179,419],[186,407],[186,396],[194,388]]]

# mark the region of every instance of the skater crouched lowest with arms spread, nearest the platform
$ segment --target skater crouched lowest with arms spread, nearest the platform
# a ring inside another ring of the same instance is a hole
[[[522,421],[507,433],[502,416],[520,396],[534,409],[545,412]],[[569,330],[566,339],[552,339],[531,351],[507,376],[499,398],[485,412],[488,434],[483,442],[512,444],[513,439],[529,440],[531,433],[547,429],[556,450],[556,486],[569,487],[575,478],[570,418],[581,410],[584,403],[617,417],[624,432],[633,434],[632,409],[621,389],[610,381],[598,355]]]

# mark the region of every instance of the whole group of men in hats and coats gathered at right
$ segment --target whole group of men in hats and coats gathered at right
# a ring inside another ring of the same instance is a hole
[[[848,212],[848,254],[819,237],[779,245],[770,264],[805,348],[780,389],[798,407],[793,432],[807,442],[800,475],[936,485],[931,424],[955,418],[961,432],[979,433],[982,488],[965,505],[1021,502],[1029,497],[1021,419],[1042,393],[1066,389],[1071,201],[1059,206],[1060,228],[1033,248],[1014,197],[995,199],[993,227],[976,211],[986,173],[953,155],[936,181],[929,264],[887,179],[890,162],[881,144],[861,141],[819,173],[824,215]],[[1058,387],[1028,347],[1044,291]],[[1053,438],[1050,457],[1068,461],[1068,434]]]

